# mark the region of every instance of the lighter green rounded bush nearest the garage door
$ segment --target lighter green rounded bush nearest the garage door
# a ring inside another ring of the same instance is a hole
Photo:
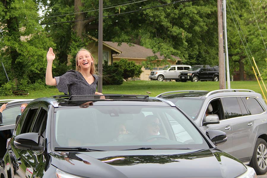
[[[128,61],[126,59],[121,59],[120,61],[114,62],[116,68],[123,69],[123,78],[127,80],[128,78],[140,77],[142,71],[141,65],[136,65],[134,61]]]

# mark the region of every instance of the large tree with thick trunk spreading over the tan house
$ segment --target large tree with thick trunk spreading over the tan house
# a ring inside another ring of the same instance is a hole
[[[200,0],[154,8],[170,2],[173,1],[143,1],[104,9],[104,16],[117,14],[104,18],[104,41],[142,45],[152,49],[155,54],[164,56],[165,59],[175,61],[172,57],[174,55],[180,57],[184,63],[191,65],[218,64],[216,2]],[[43,3],[47,7],[46,16],[76,13],[44,18],[43,23],[79,20],[46,26],[47,31],[53,34],[57,51],[61,54],[58,57],[63,60],[62,62],[67,61],[66,54],[73,55],[74,48],[70,47],[78,46],[72,45],[73,43],[79,44],[74,39],[79,38],[82,42],[80,47],[83,47],[89,41],[86,34],[98,38],[98,11],[90,11],[98,9],[98,1],[51,0]],[[107,0],[104,1],[104,7],[111,7],[119,3],[125,4],[125,1]],[[124,12],[145,8],[152,9],[120,15]],[[151,56],[144,65],[152,68],[163,64],[166,64],[166,60],[157,60]]]

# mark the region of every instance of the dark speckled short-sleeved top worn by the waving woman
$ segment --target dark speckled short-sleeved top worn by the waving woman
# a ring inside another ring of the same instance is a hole
[[[55,77],[57,82],[57,88],[59,92],[63,92],[66,95],[69,92],[69,96],[74,95],[94,95],[96,92],[96,86],[98,76],[93,74],[95,81],[89,84],[79,71],[69,70],[65,74],[59,77]],[[71,100],[80,100],[80,97],[73,97]]]

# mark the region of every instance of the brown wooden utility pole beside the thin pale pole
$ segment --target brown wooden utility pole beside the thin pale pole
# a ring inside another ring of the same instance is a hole
[[[218,42],[219,42],[219,82],[220,89],[225,89],[225,61],[223,56],[223,26],[222,26],[222,0],[217,0],[218,9]]]

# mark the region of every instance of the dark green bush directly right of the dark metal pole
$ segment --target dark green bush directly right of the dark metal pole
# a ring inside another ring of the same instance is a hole
[[[108,65],[107,61],[103,65],[103,85],[121,85],[123,83],[123,69],[118,66]]]

